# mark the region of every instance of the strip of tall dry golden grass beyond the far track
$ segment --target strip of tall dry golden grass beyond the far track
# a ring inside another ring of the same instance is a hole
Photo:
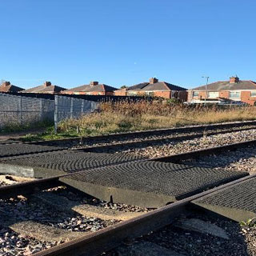
[[[256,107],[186,106],[168,102],[102,102],[99,113],[61,122],[61,132],[110,134],[215,122],[246,121],[256,118]]]

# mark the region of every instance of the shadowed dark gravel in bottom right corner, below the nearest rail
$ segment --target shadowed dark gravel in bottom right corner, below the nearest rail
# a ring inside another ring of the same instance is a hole
[[[218,238],[211,234],[202,234],[193,230],[184,230],[178,227],[178,222],[186,218],[178,218],[174,225],[166,226],[158,231],[137,238],[134,242],[153,242],[158,246],[167,248],[183,256],[254,256],[256,255],[256,228],[241,228],[239,223],[231,222],[223,218],[214,218],[206,214],[194,213],[189,218],[197,218],[204,222],[214,224],[225,230],[229,240]],[[123,246],[122,246],[123,247]],[[126,246],[125,246],[126,247]],[[139,256],[142,254],[130,254],[130,247],[126,247],[124,254],[119,248],[106,252],[106,256]],[[150,254],[150,256],[161,256]],[[169,255],[169,254],[168,254]]]

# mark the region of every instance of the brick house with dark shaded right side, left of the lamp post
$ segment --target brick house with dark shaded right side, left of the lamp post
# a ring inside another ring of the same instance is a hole
[[[162,98],[178,98],[186,101],[186,88],[174,86],[169,82],[159,82],[157,78],[150,78],[149,82],[142,82],[128,88],[116,90],[117,96],[154,96]]]

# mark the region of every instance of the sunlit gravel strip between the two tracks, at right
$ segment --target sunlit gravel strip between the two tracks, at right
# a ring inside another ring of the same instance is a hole
[[[170,154],[178,154],[183,152],[190,152],[194,150],[201,150],[213,146],[223,146],[234,142],[245,142],[247,140],[256,139],[256,129],[230,132],[228,134],[217,134],[212,136],[205,136],[202,138],[194,138],[182,142],[161,143],[160,145],[146,146],[139,149],[123,149],[115,150],[116,153],[124,152],[126,154],[134,154],[144,158],[158,158]]]

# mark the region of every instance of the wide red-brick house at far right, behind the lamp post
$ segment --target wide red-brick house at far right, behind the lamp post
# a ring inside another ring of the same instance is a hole
[[[188,102],[200,103],[216,99],[246,102],[255,106],[256,82],[240,80],[237,76],[229,81],[219,81],[188,90]]]

